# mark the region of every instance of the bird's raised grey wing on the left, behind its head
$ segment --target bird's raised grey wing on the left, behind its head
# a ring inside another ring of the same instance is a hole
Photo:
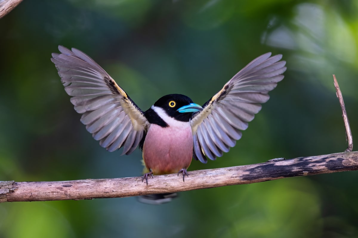
[[[143,111],[95,61],[82,51],[58,46],[53,53],[61,82],[81,122],[102,147],[122,155],[132,153],[141,141],[148,121]]]

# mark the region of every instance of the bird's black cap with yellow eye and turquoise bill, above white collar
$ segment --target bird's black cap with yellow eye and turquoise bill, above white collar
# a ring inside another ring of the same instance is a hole
[[[203,108],[182,94],[169,94],[159,98],[153,105],[164,110],[166,115],[178,121],[188,122],[194,112],[202,111]]]

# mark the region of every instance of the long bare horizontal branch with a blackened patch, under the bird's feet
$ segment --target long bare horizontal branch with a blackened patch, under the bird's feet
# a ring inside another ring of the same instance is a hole
[[[243,166],[189,171],[189,178],[176,174],[141,177],[85,179],[59,182],[0,182],[0,202],[55,201],[131,197],[170,193],[235,184],[358,170],[358,152],[299,157]]]

